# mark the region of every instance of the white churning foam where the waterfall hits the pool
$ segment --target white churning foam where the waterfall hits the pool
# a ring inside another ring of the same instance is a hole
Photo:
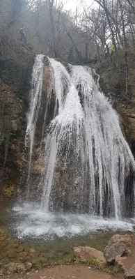
[[[134,222],[130,220],[104,219],[88,214],[54,214],[42,211],[40,205],[23,204],[13,208],[17,218],[14,227],[20,239],[25,237],[53,239],[58,237],[85,236],[90,232],[130,231],[134,230]]]

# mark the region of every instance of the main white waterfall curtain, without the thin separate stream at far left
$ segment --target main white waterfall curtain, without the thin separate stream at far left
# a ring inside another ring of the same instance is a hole
[[[69,75],[61,63],[53,59],[50,63],[59,107],[46,138],[43,159],[46,164],[40,183],[42,207],[69,210],[65,188],[71,186],[62,185],[55,190],[59,199],[55,206],[53,187],[55,168],[61,171],[61,165],[65,167],[66,181],[68,167],[72,165],[75,191],[71,189],[75,199],[71,198],[70,209],[119,218],[126,204],[125,175],[129,175],[131,167],[134,169],[134,158],[120,130],[118,116],[97,89],[88,68],[73,66]],[[63,84],[67,86],[65,98]]]

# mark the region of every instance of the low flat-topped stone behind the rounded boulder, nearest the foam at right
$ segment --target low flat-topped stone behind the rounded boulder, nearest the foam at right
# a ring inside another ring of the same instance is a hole
[[[127,246],[130,246],[132,244],[132,236],[130,234],[114,234],[109,240],[109,245],[113,245],[114,243],[119,241],[125,243]]]

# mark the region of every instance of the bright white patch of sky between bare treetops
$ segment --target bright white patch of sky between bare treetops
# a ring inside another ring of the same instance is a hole
[[[75,12],[76,7],[81,8],[81,6],[91,6],[94,8],[97,6],[94,0],[63,0],[65,10],[72,10]]]

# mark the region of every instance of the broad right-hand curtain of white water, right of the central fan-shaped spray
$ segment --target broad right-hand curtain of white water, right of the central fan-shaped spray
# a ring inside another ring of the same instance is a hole
[[[80,143],[80,148],[90,213],[120,218],[126,204],[125,176],[131,167],[134,169],[132,152],[120,130],[118,115],[97,89],[90,70],[74,66],[72,80],[84,110],[84,144]]]

